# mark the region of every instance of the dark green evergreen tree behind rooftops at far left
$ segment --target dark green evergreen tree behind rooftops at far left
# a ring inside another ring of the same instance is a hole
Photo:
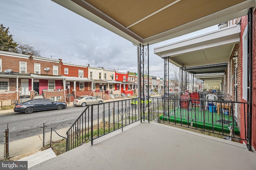
[[[16,52],[17,43],[12,39],[12,34],[9,35],[9,27],[6,28],[0,24],[0,51]]]

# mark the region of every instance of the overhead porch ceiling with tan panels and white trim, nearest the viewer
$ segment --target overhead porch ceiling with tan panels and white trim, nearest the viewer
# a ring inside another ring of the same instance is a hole
[[[52,0],[132,43],[153,44],[247,14],[255,0]]]

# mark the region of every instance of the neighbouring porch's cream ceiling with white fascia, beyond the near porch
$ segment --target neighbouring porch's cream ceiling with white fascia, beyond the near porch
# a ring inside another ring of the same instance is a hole
[[[240,26],[233,25],[210,33],[154,48],[154,53],[178,67],[192,67],[194,73],[224,69],[222,63],[230,60],[234,45],[240,41]],[[215,66],[205,66],[216,64]],[[222,65],[220,65],[222,64]],[[198,69],[193,68],[195,66]],[[221,69],[220,69],[221,68]],[[200,71],[200,69],[202,69]]]

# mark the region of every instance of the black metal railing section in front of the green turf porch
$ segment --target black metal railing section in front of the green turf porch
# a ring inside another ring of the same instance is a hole
[[[182,98],[153,98],[150,121],[169,123],[208,133],[226,139],[246,141],[245,102],[199,100]],[[157,101],[157,102],[155,102]],[[241,129],[244,129],[241,131]]]

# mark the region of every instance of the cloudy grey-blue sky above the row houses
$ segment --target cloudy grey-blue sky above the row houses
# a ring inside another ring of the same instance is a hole
[[[41,56],[64,62],[137,71],[137,48],[119,35],[51,0],[1,0],[0,23],[14,41],[30,44]],[[217,29],[216,26],[149,46],[150,75],[163,77],[164,61],[154,48]]]

